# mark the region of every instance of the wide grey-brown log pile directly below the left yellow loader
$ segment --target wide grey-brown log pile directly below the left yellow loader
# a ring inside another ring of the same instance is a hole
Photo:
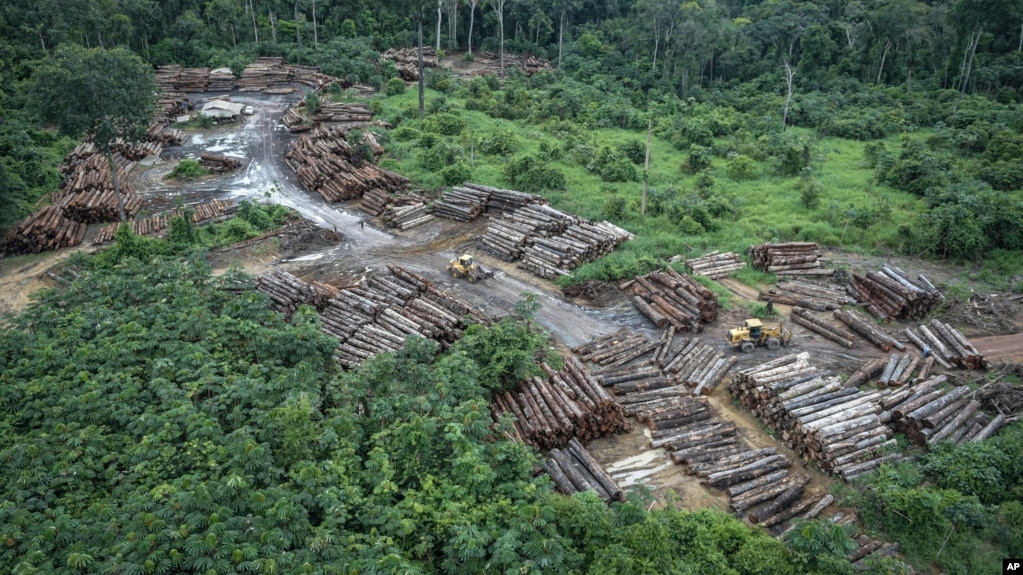
[[[425,277],[389,265],[359,285],[344,288],[320,310],[324,331],[340,340],[335,357],[345,367],[401,349],[408,336],[448,346],[468,321],[485,321],[478,310],[431,285]]]

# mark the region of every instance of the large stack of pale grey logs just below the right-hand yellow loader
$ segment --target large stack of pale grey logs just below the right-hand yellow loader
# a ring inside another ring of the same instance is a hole
[[[846,481],[902,458],[884,425],[887,392],[846,386],[812,365],[808,353],[740,370],[728,389],[790,447]]]

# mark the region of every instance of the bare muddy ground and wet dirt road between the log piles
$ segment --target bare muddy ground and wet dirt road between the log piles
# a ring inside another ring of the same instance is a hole
[[[471,67],[460,61],[452,65],[460,69]],[[471,224],[437,220],[396,233],[380,227],[355,204],[330,205],[307,192],[298,185],[291,169],[283,163],[283,153],[294,136],[283,129],[279,121],[287,103],[298,97],[301,94],[236,94],[235,101],[256,108],[255,116],[235,126],[196,132],[185,145],[171,148],[163,162],[133,175],[133,185],[149,200],[147,210],[150,212],[215,197],[270,200],[296,210],[308,222],[263,241],[212,254],[215,269],[226,270],[230,266],[241,265],[254,274],[284,269],[305,279],[348,284],[385,269],[389,263],[395,263],[424,274],[439,288],[494,317],[510,314],[522,294],[536,294],[542,304],[537,321],[550,331],[560,349],[578,346],[623,326],[643,331],[652,338],[657,336],[649,321],[612,285],[591,283],[570,292],[570,296],[566,297],[551,282],[476,250],[474,238],[485,229],[486,218]],[[186,184],[169,183],[163,179],[176,161],[196,158],[202,151],[238,158],[242,161],[242,169],[235,174]],[[94,229],[90,230],[90,235],[94,232]],[[52,285],[47,270],[62,262],[71,252],[65,250],[0,260],[0,312],[23,309],[34,292]],[[463,252],[474,254],[485,268],[495,271],[495,276],[476,284],[448,276],[444,271],[447,262]],[[910,273],[924,273],[939,285],[959,282],[963,276],[962,269],[907,258],[870,258],[838,251],[828,256],[837,266],[855,271],[878,269],[882,263],[892,263]],[[757,286],[746,285],[733,278],[723,279],[721,283],[735,294],[737,300],[756,301]],[[945,313],[949,317],[975,318],[965,327],[970,329],[968,336],[985,354],[1000,361],[1023,362],[1023,339],[1015,336],[1023,329],[1023,303],[1020,299],[1014,299],[1012,295],[980,295],[972,300],[977,302],[975,307],[971,307],[970,302],[949,302]],[[742,305],[733,306],[732,311],[722,313],[700,337],[705,343],[724,350],[724,335],[746,318],[744,309],[746,307]],[[791,347],[777,352],[758,349],[751,354],[740,354],[737,368],[762,363],[793,351],[809,351],[819,364],[835,372],[848,373],[866,360],[885,355],[865,342],[857,342],[852,350],[841,348],[788,322],[791,313],[788,306],[775,306],[775,310],[780,313],[780,320],[786,321],[794,333]],[[955,316],[955,313],[962,315]],[[901,327],[897,323],[885,326],[893,334]],[[726,353],[735,352],[728,350]],[[743,441],[751,447],[774,446],[789,454],[796,461],[793,471],[809,474],[812,477],[809,490],[822,495],[831,480],[803,466],[801,459],[776,441],[756,418],[732,402],[725,387],[723,384],[719,386],[710,400],[721,416],[737,424]],[[723,493],[700,486],[695,478],[685,476],[681,469],[671,465],[663,450],[648,449],[649,438],[643,434],[644,429],[643,426],[634,426],[627,435],[592,442],[590,449],[621,481],[648,486],[656,497],[655,505],[674,502],[686,508],[726,508]]]

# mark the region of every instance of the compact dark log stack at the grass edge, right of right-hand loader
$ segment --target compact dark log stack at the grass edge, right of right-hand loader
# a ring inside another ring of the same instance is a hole
[[[853,273],[848,290],[878,319],[923,317],[943,300],[923,275],[911,279],[904,271],[887,265],[866,275]]]

